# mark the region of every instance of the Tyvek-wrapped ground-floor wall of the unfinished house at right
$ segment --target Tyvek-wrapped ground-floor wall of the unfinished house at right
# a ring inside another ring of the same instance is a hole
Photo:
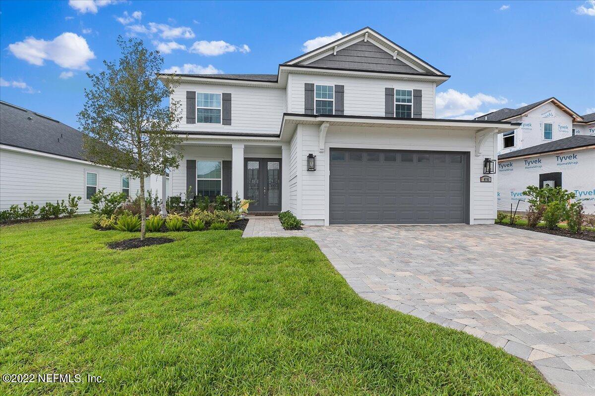
[[[583,199],[585,213],[595,214],[595,150],[569,150],[564,153],[543,154],[522,159],[510,159],[498,163],[498,210],[515,210],[519,199],[527,199],[522,192],[527,186],[539,186],[543,173],[562,173],[562,188],[574,192]],[[527,210],[527,202],[519,202],[521,211]]]

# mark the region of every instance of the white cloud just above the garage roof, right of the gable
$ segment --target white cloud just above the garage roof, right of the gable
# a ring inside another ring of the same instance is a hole
[[[438,118],[473,118],[475,115],[466,113],[476,112],[483,104],[505,104],[506,102],[508,99],[503,97],[496,98],[483,93],[469,96],[464,92],[450,88],[446,92],[436,94],[436,113]],[[483,113],[480,112],[476,116]]]

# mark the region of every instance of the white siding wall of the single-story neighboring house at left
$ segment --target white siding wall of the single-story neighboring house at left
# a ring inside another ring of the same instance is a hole
[[[78,213],[88,213],[91,203],[85,199],[84,173],[97,173],[97,188],[105,192],[121,192],[123,172],[107,167],[77,163],[35,154],[1,150],[0,210],[10,205],[29,203],[44,205],[68,199],[68,194],[80,196]],[[147,179],[148,180],[148,179]],[[149,189],[146,183],[145,189]],[[130,180],[130,195],[139,191],[139,180]]]

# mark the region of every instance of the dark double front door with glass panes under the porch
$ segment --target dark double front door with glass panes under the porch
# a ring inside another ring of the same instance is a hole
[[[281,211],[281,159],[246,158],[244,197],[252,212]]]

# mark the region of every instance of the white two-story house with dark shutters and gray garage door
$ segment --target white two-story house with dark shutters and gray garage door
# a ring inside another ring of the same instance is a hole
[[[277,74],[179,76],[174,195],[237,193],[310,225],[493,223],[497,175],[480,178],[520,123],[436,119],[450,76],[371,28]]]

